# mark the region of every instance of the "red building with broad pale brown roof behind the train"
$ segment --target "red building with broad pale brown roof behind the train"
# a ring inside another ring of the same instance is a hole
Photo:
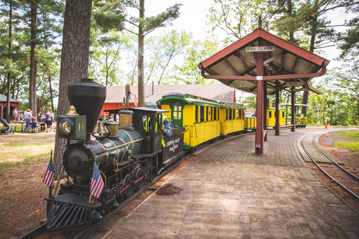
[[[131,86],[131,93],[136,97],[138,97],[137,89],[137,86]],[[169,92],[183,92],[208,99],[230,102],[236,99],[234,88],[223,84],[145,85],[145,101],[156,102],[162,98],[162,95]],[[133,95],[131,96],[130,107],[135,107],[133,104],[135,97]],[[107,86],[107,97],[100,115],[104,115],[104,110],[122,109],[123,96],[125,96],[125,86]]]

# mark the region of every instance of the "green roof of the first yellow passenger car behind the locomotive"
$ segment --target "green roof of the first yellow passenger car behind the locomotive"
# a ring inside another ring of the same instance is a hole
[[[188,105],[200,105],[200,106],[221,106],[216,100],[206,99],[203,97],[185,94],[182,92],[170,92],[164,94],[162,99],[159,99],[157,103],[161,103],[167,100],[182,100]]]

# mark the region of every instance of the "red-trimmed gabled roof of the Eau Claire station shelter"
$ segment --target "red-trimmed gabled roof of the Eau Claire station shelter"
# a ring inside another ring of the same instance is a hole
[[[261,28],[257,28],[237,42],[205,59],[198,67],[202,70],[204,78],[215,78],[224,85],[238,84],[243,87],[237,87],[237,89],[254,93],[256,92],[256,81],[253,80],[253,77],[257,72],[255,52],[246,52],[246,47],[258,46],[274,46],[275,49],[265,52],[266,58],[263,62],[263,79],[271,79],[267,81],[267,94],[275,93],[276,76],[280,82],[280,90],[283,90],[285,82],[288,81],[285,79],[289,79],[284,75],[292,74],[297,74],[297,78],[291,81],[304,81],[304,87],[308,90],[323,94],[312,86],[311,80],[315,76],[320,76],[320,73],[322,73],[321,75],[325,73],[329,61]],[[301,75],[309,73],[316,74]],[[237,77],[220,78],[220,76]],[[251,80],[249,80],[250,78]]]

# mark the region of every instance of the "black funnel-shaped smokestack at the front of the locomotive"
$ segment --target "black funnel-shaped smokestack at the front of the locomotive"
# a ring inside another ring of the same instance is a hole
[[[106,99],[106,86],[93,82],[92,79],[82,78],[66,86],[66,97],[69,105],[73,105],[80,115],[86,115],[87,142]]]

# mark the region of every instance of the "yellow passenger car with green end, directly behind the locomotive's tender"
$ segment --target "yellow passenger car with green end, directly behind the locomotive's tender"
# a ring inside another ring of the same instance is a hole
[[[186,126],[183,149],[191,149],[220,136],[220,107],[215,100],[182,92],[164,94],[157,103],[173,125]]]

